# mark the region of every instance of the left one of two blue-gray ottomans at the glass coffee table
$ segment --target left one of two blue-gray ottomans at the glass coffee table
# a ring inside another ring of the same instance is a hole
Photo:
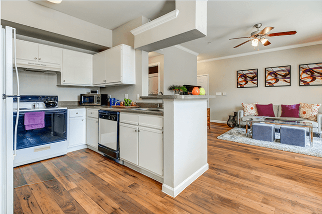
[[[273,142],[275,140],[275,125],[266,123],[253,123],[253,139]]]

